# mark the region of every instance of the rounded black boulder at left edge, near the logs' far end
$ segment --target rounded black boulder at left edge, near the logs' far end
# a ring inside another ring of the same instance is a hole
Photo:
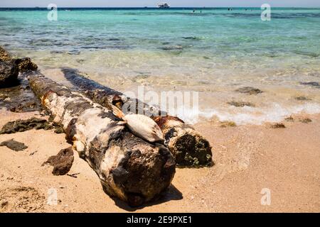
[[[0,62],[0,87],[11,87],[18,78],[18,67],[14,62]]]

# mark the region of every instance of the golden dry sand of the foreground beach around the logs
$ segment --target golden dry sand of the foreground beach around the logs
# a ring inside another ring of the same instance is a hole
[[[0,111],[0,127],[8,121],[38,113]],[[320,115],[311,123],[284,122],[287,128],[238,126],[220,128],[203,123],[196,129],[213,146],[215,165],[177,169],[161,201],[129,208],[105,194],[95,172],[75,153],[70,174],[53,176],[43,166],[50,155],[68,148],[64,134],[26,131],[0,135],[0,143],[14,138],[28,148],[15,152],[0,147],[1,212],[294,212],[320,211]],[[36,152],[36,153],[34,153]],[[30,155],[34,153],[33,155]],[[48,189],[58,192],[58,205],[50,206]],[[270,206],[262,206],[260,192],[271,192]]]

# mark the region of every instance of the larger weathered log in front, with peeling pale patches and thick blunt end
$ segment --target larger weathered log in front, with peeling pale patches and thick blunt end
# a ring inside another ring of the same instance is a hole
[[[119,125],[110,110],[38,72],[28,79],[43,107],[62,123],[68,141],[97,172],[107,194],[139,206],[169,187],[175,162],[164,145],[138,138]]]

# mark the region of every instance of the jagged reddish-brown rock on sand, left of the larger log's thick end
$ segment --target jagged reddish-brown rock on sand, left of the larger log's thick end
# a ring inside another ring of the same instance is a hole
[[[58,155],[54,155],[48,158],[43,165],[49,164],[53,166],[53,175],[66,175],[73,166],[73,148],[66,148],[60,150]]]

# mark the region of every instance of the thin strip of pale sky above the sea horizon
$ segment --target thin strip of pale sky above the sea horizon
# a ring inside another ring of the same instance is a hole
[[[265,3],[273,7],[320,7],[320,0],[0,0],[0,7],[46,7],[50,3],[58,7],[154,7],[159,2],[168,2],[172,7],[260,7]]]

